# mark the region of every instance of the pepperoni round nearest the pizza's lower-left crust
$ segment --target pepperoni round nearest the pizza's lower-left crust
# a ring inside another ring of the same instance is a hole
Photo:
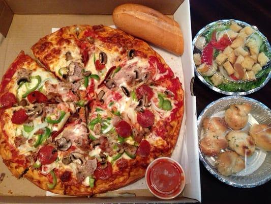
[[[38,160],[42,165],[51,164],[57,159],[57,151],[50,145],[43,146],[38,152]]]

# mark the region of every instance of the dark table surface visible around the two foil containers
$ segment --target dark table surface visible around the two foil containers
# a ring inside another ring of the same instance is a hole
[[[190,1],[192,38],[209,22],[219,19],[237,19],[258,29],[271,39],[271,1]],[[226,95],[207,88],[197,77],[194,82],[197,97],[197,115],[212,101]],[[247,95],[271,107],[271,81],[256,93]],[[271,170],[270,170],[271,173]],[[200,162],[202,203],[271,203],[271,181],[250,189],[235,188],[220,182]]]

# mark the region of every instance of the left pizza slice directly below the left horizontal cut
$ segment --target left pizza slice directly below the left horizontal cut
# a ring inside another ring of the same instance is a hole
[[[35,104],[1,110],[1,156],[16,177],[33,164],[39,148],[63,128],[73,111],[68,104]]]

